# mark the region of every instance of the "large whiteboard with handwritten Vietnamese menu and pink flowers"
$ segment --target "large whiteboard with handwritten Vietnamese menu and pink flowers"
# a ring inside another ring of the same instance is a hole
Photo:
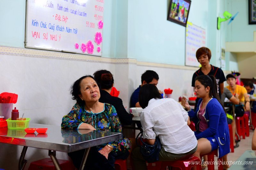
[[[27,0],[25,47],[101,56],[104,0]]]

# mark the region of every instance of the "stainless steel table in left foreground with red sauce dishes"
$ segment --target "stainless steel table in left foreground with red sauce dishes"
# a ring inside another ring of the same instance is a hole
[[[56,151],[74,152],[85,149],[84,158],[80,169],[84,169],[90,147],[119,140],[121,133],[92,131],[92,130],[73,130],[61,129],[60,126],[46,124],[29,124],[29,128],[48,128],[45,134],[27,134],[24,130],[11,130],[0,128],[0,142],[12,145],[24,146],[20,155],[19,169],[23,169],[27,163],[24,159],[28,147],[49,150],[49,156],[57,170],[60,170],[60,164],[56,159]],[[11,140],[8,140],[11,139]]]

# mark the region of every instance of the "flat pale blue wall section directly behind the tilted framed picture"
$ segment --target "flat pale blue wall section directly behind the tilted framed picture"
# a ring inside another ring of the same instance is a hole
[[[128,58],[184,66],[185,27],[167,20],[169,5],[170,1],[128,1]],[[207,11],[208,1],[192,1],[188,21],[207,32]]]

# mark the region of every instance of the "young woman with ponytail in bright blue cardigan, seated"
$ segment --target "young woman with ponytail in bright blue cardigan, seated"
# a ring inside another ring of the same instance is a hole
[[[227,161],[227,154],[230,152],[227,116],[217,93],[214,76],[197,76],[195,92],[200,98],[195,112],[191,110],[186,98],[183,97],[181,101],[196,126],[195,136],[198,147],[193,155],[200,158],[200,154],[218,149],[219,157],[224,156],[223,161]]]

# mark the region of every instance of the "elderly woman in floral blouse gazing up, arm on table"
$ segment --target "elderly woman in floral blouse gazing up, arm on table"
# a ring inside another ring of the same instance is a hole
[[[76,100],[76,104],[68,115],[62,118],[61,128],[122,133],[115,107],[111,104],[99,102],[100,89],[91,75],[76,80],[71,87],[71,94],[72,99]],[[111,169],[110,167],[113,168],[115,159],[126,159],[128,157],[130,147],[131,144],[128,138],[96,146],[91,149],[88,157],[90,161],[87,160],[85,167],[88,169]],[[73,160],[76,168],[79,168],[84,150],[71,152],[68,155]],[[104,157],[102,158],[101,155]],[[90,156],[93,158],[90,159]]]

